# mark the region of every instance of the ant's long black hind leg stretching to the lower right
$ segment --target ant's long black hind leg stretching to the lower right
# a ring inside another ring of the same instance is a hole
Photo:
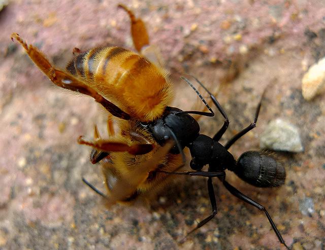
[[[253,205],[254,207],[257,207],[259,210],[261,211],[264,211],[265,212],[265,215],[266,217],[268,218],[270,224],[271,224],[271,227],[273,229],[273,231],[275,232],[276,236],[278,237],[279,241],[287,248],[289,249],[289,247],[285,244],[279,230],[276,228],[271,216],[269,215],[268,211],[265,209],[264,206],[262,206],[261,204],[255,202],[254,200],[252,200],[251,198],[247,197],[246,195],[242,194],[239,190],[237,190],[235,187],[233,187],[232,185],[230,185],[228,182],[226,182],[225,180],[221,180],[224,187],[226,189],[228,189],[228,191],[233,194],[234,196],[236,196],[237,198],[245,201],[246,203],[248,204],[251,204]]]

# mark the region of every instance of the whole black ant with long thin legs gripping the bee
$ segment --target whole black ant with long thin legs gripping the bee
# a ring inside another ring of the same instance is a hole
[[[158,118],[153,122],[141,124],[143,128],[150,132],[150,134],[154,137],[154,139],[160,146],[166,145],[170,138],[175,141],[175,146],[171,148],[169,153],[182,154],[183,162],[185,162],[183,149],[185,147],[188,147],[192,157],[190,161],[190,167],[194,171],[170,172],[164,170],[155,170],[155,172],[208,177],[207,184],[209,198],[212,206],[212,213],[210,216],[202,220],[188,234],[194,232],[198,228],[208,223],[217,214],[217,204],[212,185],[212,177],[218,177],[224,187],[234,196],[265,212],[265,215],[268,218],[272,229],[278,237],[279,241],[287,249],[289,249],[266,208],[263,205],[252,200],[251,198],[247,197],[246,195],[242,194],[239,190],[237,190],[225,180],[225,170],[228,169],[235,172],[245,182],[256,187],[278,187],[284,184],[285,169],[270,155],[257,151],[248,151],[243,153],[236,161],[234,159],[234,156],[228,151],[228,149],[240,137],[245,135],[248,131],[250,131],[256,126],[259,110],[261,109],[261,104],[265,95],[265,91],[262,94],[261,100],[257,105],[253,123],[249,124],[246,128],[244,128],[242,131],[232,137],[225,144],[225,146],[222,146],[218,142],[218,140],[222,137],[222,135],[228,128],[229,119],[227,115],[225,114],[224,110],[222,109],[221,105],[216,100],[214,95],[198,79],[194,78],[204,88],[204,90],[207,91],[207,93],[210,95],[212,102],[215,104],[216,108],[225,119],[223,126],[212,138],[207,135],[200,134],[200,125],[189,114],[213,117],[214,112],[212,111],[208,103],[205,101],[205,99],[202,97],[202,95],[198,92],[198,90],[186,78],[182,77],[182,79],[189,86],[191,86],[194,91],[196,91],[196,93],[199,95],[199,97],[207,106],[210,112],[182,111],[178,108],[167,106],[164,116]],[[98,162],[107,155],[109,155],[109,153],[106,152],[102,152],[101,155],[97,156],[95,153],[92,153],[91,161]],[[94,156],[96,156],[95,159],[93,158]],[[205,165],[209,165],[208,171],[202,171],[202,168]],[[96,193],[100,194],[103,197],[107,197],[102,192],[93,187],[91,184],[89,184],[84,178],[83,181]]]

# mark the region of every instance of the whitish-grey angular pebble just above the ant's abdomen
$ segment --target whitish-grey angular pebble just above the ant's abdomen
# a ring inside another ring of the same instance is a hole
[[[298,128],[281,119],[271,121],[259,139],[261,149],[299,153],[301,144]]]

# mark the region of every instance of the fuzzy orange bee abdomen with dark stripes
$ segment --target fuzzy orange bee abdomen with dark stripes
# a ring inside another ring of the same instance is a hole
[[[147,58],[120,47],[81,53],[69,62],[67,70],[142,121],[161,116],[171,99],[168,73]]]

